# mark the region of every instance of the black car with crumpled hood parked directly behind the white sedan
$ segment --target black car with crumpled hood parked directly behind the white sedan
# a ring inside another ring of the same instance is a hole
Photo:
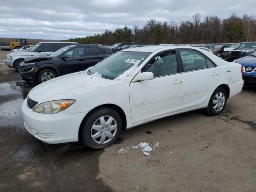
[[[58,76],[86,70],[113,52],[103,46],[70,45],[50,55],[29,57],[20,64],[20,78],[42,83]]]

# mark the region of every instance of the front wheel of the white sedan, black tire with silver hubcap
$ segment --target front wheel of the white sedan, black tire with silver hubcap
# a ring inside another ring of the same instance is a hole
[[[112,122],[108,123],[111,118],[113,118]],[[106,126],[104,126],[104,123],[101,123],[103,120]],[[110,130],[110,127],[111,129],[116,129]],[[80,127],[79,136],[87,146],[94,149],[102,149],[114,144],[121,134],[121,131],[122,119],[118,112],[112,108],[104,107],[93,111],[84,119]],[[92,136],[94,136],[94,139]],[[113,137],[110,139],[108,136]]]

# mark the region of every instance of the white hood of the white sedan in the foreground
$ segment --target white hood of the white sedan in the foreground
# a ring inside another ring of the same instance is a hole
[[[81,71],[39,84],[28,93],[28,96],[38,103],[64,98],[75,99],[74,94],[78,92],[113,82],[116,82],[116,80],[90,76]]]

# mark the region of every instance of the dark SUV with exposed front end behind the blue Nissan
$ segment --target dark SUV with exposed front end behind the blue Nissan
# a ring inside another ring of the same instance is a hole
[[[243,42],[237,49],[228,52],[225,61],[232,62],[244,56],[248,56],[256,49],[256,42]]]

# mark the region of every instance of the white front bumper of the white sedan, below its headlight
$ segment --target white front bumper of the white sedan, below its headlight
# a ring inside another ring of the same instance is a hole
[[[42,114],[32,111],[27,99],[22,103],[24,126],[30,134],[49,144],[76,142],[80,124],[87,112],[67,114],[64,111]]]

